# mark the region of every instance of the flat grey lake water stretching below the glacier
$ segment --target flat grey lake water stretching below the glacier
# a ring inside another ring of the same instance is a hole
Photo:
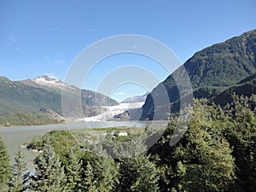
[[[79,122],[70,124],[57,124],[57,125],[38,125],[38,126],[22,126],[22,127],[3,127],[0,128],[0,135],[3,137],[9,156],[12,162],[14,162],[15,152],[18,148],[26,143],[32,141],[33,137],[43,136],[46,132],[53,130],[79,130],[79,129],[90,129],[90,128],[107,128],[107,127],[134,127],[134,128],[145,128],[146,126],[163,127],[166,126],[166,121],[157,122],[137,122],[137,121],[108,121],[108,122]],[[30,162],[37,155],[32,150],[23,149],[26,156],[26,162],[30,166]]]

